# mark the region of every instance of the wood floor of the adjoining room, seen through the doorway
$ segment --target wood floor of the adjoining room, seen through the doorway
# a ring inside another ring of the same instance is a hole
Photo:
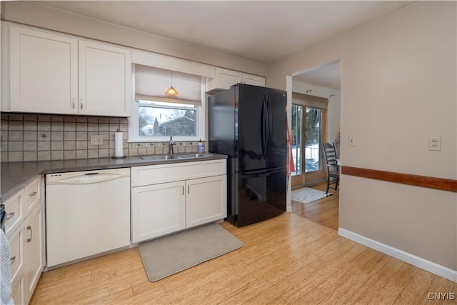
[[[317,184],[308,186],[311,189],[326,191],[326,182],[318,182]],[[329,189],[331,196],[319,199],[309,204],[302,204],[298,201],[291,201],[292,212],[303,218],[309,219],[333,230],[338,230],[338,211],[340,192],[334,189]]]

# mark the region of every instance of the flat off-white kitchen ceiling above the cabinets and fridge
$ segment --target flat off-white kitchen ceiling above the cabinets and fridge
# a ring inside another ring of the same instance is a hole
[[[268,64],[417,1],[35,2]]]

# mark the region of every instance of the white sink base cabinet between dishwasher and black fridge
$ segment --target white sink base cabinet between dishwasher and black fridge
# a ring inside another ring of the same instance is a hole
[[[226,217],[225,159],[138,166],[131,176],[133,243]]]

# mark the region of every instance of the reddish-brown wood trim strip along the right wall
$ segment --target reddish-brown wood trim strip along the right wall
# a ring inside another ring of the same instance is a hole
[[[439,189],[441,191],[457,192],[457,180],[455,179],[418,176],[413,174],[396,173],[393,171],[378,171],[376,169],[361,169],[352,166],[341,166],[341,174],[395,182],[399,184],[421,186],[429,189]]]

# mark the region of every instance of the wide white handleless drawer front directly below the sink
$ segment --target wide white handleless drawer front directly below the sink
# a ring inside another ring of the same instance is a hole
[[[131,186],[160,184],[226,174],[226,160],[136,166],[131,168]]]

